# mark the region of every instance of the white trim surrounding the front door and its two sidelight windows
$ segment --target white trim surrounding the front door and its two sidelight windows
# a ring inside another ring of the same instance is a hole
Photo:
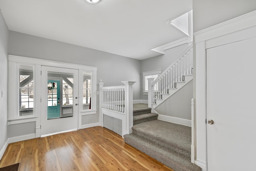
[[[65,62],[56,62],[50,60],[42,60],[36,58],[27,58],[23,56],[8,56],[8,125],[17,124],[17,123],[26,123],[31,121],[36,121],[36,128],[40,128],[40,119],[41,119],[41,66],[51,66],[51,67],[58,67],[58,68],[69,68],[69,69],[76,69],[79,72],[89,71],[92,72],[92,106],[91,110],[79,110],[78,111],[78,128],[81,127],[82,123],[82,115],[91,115],[96,114],[96,74],[97,74],[97,67],[94,66],[85,66],[80,64],[71,64]],[[22,65],[33,65],[34,68],[34,115],[30,116],[19,116],[19,89],[18,89],[18,64]],[[80,74],[81,75],[81,74]],[[80,90],[82,88],[82,84],[80,84],[80,75],[79,75],[79,85],[78,85],[78,93],[79,96],[82,93]],[[83,74],[81,75],[83,77]],[[36,79],[37,78],[37,79]],[[82,81],[83,83],[83,81]],[[82,98],[79,98],[79,103],[81,103]],[[82,107],[82,105],[80,105]],[[36,135],[39,135],[36,133]]]

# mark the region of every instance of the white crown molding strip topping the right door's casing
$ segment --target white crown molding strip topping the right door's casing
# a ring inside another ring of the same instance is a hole
[[[256,26],[256,10],[194,33],[195,43]]]

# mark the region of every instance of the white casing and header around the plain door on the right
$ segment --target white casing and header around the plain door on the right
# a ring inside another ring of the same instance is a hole
[[[245,34],[246,33],[246,34]],[[196,32],[196,159],[195,163],[207,170],[206,151],[206,49],[256,37],[256,11]]]

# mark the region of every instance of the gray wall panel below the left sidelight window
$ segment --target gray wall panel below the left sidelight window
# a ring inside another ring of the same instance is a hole
[[[36,133],[36,122],[8,125],[8,138]]]

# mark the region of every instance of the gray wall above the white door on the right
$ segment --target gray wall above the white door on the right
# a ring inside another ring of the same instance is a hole
[[[256,10],[256,0],[193,0],[193,32]]]

